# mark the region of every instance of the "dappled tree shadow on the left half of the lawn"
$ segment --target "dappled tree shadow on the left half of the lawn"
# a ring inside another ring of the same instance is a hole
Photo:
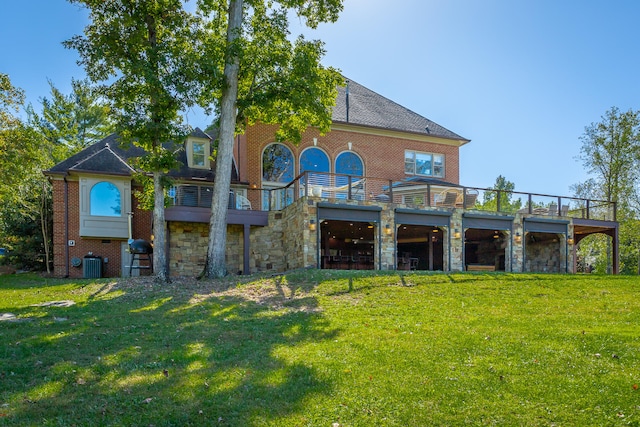
[[[19,309],[39,312],[2,325],[0,424],[304,424],[305,397],[331,390],[287,352],[335,337],[314,298],[96,288],[85,304]]]

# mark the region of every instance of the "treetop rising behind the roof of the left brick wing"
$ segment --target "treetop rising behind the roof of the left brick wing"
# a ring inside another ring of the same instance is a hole
[[[63,154],[56,161],[99,141],[113,132],[109,106],[97,88],[88,80],[71,80],[71,93],[63,94],[49,81],[51,98],[41,98],[42,113],[27,107],[29,123],[36,128],[50,146]]]

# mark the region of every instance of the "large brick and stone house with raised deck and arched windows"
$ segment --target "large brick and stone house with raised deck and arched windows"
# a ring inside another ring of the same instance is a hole
[[[572,272],[577,243],[594,233],[611,237],[617,271],[615,205],[462,186],[460,147],[468,139],[353,81],[339,88],[327,135],[309,129],[293,145],[277,143],[275,129],[256,124],[236,138],[230,273]],[[196,129],[175,147],[183,166],[170,173],[165,210],[170,275],[195,275],[204,266],[211,144]],[[152,239],[151,213],[133,196],[130,159],[141,154],[111,135],[45,171],[54,188],[56,275],[87,276],[96,259],[104,276],[145,266],[128,252],[129,239]]]

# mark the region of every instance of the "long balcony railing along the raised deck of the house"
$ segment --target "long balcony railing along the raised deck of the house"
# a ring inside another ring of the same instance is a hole
[[[176,206],[204,208],[211,206],[212,194],[212,185],[179,185],[169,192]],[[603,200],[319,172],[305,172],[278,188],[232,189],[229,209],[282,210],[300,197],[395,203],[415,209],[616,220],[616,204]]]

